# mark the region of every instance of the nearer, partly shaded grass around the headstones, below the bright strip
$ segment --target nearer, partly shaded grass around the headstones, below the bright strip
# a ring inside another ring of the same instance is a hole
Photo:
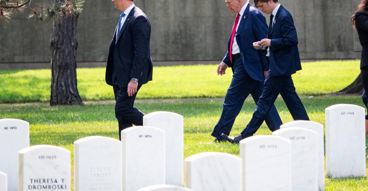
[[[330,105],[345,103],[363,107],[359,96],[302,96],[301,100],[307,108],[309,118],[323,125],[325,124],[324,109]],[[145,113],[170,111],[184,116],[184,158],[210,151],[239,155],[238,145],[201,144],[213,139],[210,133],[221,115],[222,102],[223,98],[141,99],[136,101],[135,106]],[[275,105],[283,123],[293,120],[281,98],[276,100]],[[254,108],[254,101],[248,98],[234,123],[233,133],[240,133],[247,125]],[[31,145],[48,144],[66,148],[71,151],[72,164],[73,143],[79,138],[98,135],[118,139],[114,101],[88,101],[84,106],[59,107],[50,107],[48,103],[42,102],[0,104],[0,118],[28,121]],[[257,131],[256,135],[258,134],[270,134],[270,131],[263,124]],[[368,139],[366,143],[368,144]],[[326,178],[326,190],[368,190],[367,185],[366,177]]]

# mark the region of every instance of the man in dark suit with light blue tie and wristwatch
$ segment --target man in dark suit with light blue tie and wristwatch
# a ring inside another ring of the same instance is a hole
[[[133,0],[112,1],[122,13],[110,44],[105,78],[113,86],[121,140],[121,130],[133,124],[143,125],[144,113],[133,105],[142,84],[152,80],[151,24]]]

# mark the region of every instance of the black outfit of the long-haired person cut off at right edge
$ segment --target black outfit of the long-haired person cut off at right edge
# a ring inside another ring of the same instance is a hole
[[[368,91],[368,13],[367,12],[356,12],[355,13],[355,26],[357,27],[359,41],[362,45],[362,57],[360,59],[360,72],[362,83],[364,86],[364,92],[362,100],[365,107],[367,105],[367,96],[365,93]],[[365,115],[365,119],[368,119],[368,115]]]

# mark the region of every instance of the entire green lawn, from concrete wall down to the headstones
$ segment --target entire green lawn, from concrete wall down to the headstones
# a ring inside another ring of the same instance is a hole
[[[359,73],[358,61],[311,62],[303,63],[302,67],[301,73],[294,74],[293,79],[311,120],[325,125],[324,110],[334,104],[364,107],[359,96],[321,95],[353,82]],[[215,70],[215,65],[156,67],[155,81],[143,86],[135,102],[144,113],[170,111],[184,116],[184,158],[208,151],[239,155],[238,145],[201,144],[213,139],[210,133],[221,115],[223,97],[231,80],[229,69],[225,76],[217,76]],[[113,93],[105,84],[104,69],[78,69],[77,72],[78,89],[85,105],[50,107],[45,102],[49,99],[49,70],[0,71],[0,102],[3,103],[0,104],[0,119],[28,121],[31,145],[48,144],[69,149],[72,164],[75,140],[95,135],[118,139],[114,101],[111,101]],[[4,104],[9,102],[18,103]],[[292,121],[281,98],[275,105],[284,123]],[[254,101],[248,98],[232,133],[240,133],[251,119],[254,108]],[[256,134],[270,134],[270,131],[263,124]],[[326,178],[326,190],[368,191],[368,179]]]

